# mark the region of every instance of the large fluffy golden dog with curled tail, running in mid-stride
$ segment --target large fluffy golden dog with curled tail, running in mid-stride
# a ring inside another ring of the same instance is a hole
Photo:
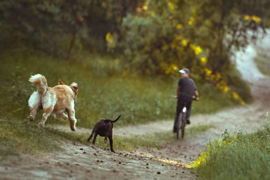
[[[31,76],[29,81],[35,84],[38,90],[28,100],[31,113],[27,119],[34,121],[36,113],[43,109],[44,113],[39,127],[43,127],[48,116],[53,113],[58,119],[69,119],[70,129],[75,131],[77,120],[75,118],[74,104],[76,103],[78,84],[71,83],[70,86],[67,86],[59,80],[58,86],[48,87],[47,79],[41,74]],[[68,116],[64,112],[67,112]]]

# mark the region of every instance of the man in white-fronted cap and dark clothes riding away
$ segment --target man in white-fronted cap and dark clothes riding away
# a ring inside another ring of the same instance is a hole
[[[191,113],[191,104],[192,100],[198,100],[198,91],[197,87],[192,79],[189,78],[190,71],[187,68],[179,70],[181,73],[182,78],[178,82],[176,98],[177,100],[177,107],[176,107],[176,116],[174,120],[174,127],[173,132],[176,133],[178,124],[178,118],[183,110],[184,104],[186,103],[187,108],[187,116],[186,116],[186,124],[190,124],[190,113]],[[195,96],[195,97],[194,97]]]

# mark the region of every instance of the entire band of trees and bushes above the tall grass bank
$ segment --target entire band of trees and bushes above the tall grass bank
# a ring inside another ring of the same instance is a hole
[[[34,48],[66,59],[107,50],[120,59],[123,76],[169,77],[187,67],[198,80],[232,97],[237,93],[244,104],[249,89],[230,75],[230,58],[267,27],[268,5],[269,0],[4,0],[1,49]]]

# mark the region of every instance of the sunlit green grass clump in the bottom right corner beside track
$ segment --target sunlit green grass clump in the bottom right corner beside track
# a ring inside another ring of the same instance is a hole
[[[268,116],[268,114],[266,114]],[[266,116],[266,119],[267,119]],[[270,126],[256,133],[230,134],[211,140],[193,164],[200,179],[269,179]]]

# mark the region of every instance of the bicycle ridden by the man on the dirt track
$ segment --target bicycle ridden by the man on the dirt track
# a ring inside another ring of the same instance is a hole
[[[198,97],[195,98],[195,96],[193,96],[193,100],[198,101],[199,98]],[[179,118],[178,118],[177,134],[176,134],[177,139],[180,139],[180,137],[182,137],[182,139],[184,138],[186,115],[187,115],[187,107],[186,107],[186,103],[184,103],[183,110],[181,111]]]

